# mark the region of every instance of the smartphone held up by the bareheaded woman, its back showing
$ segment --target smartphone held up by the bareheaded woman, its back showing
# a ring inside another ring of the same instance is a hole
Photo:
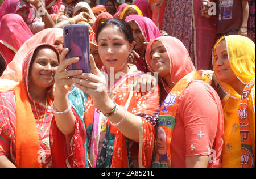
[[[63,30],[64,47],[69,50],[66,58],[79,57],[79,61],[69,65],[67,70],[82,70],[84,73],[90,73],[88,25],[64,25]]]

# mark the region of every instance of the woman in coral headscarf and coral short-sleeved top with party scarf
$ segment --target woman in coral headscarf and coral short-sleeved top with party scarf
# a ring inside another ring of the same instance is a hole
[[[163,86],[152,167],[221,167],[220,97],[185,46],[175,37],[158,37],[147,46],[146,62]]]

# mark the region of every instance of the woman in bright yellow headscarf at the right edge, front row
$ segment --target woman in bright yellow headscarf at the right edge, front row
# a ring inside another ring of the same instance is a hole
[[[213,67],[226,92],[222,167],[255,167],[255,44],[223,36],[213,49]]]

